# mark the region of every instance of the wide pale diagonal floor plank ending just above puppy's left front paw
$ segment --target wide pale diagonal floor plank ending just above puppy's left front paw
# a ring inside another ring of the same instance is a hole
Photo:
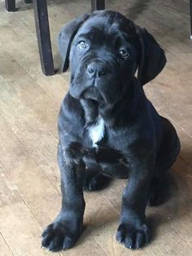
[[[59,213],[60,193],[33,161],[24,145],[20,143],[1,116],[0,121],[0,146],[1,154],[4,156],[0,161],[2,165],[1,191],[3,192],[2,199],[4,199],[2,205],[24,201],[41,227],[44,227]],[[7,187],[11,193],[7,191]]]

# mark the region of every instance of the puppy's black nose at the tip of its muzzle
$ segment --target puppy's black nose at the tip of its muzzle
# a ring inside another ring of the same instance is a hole
[[[87,66],[90,77],[102,77],[106,74],[106,66],[101,61],[94,61]]]

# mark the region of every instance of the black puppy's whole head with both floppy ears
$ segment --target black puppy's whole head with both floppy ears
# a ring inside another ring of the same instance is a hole
[[[63,72],[71,68],[70,94],[77,99],[121,99],[138,68],[142,86],[164,68],[164,51],[146,29],[115,11],[94,11],[59,33]]]

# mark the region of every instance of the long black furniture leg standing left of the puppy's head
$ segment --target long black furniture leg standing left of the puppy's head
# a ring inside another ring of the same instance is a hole
[[[51,76],[55,71],[50,43],[50,26],[46,0],[33,0],[33,9],[42,72],[46,76]]]

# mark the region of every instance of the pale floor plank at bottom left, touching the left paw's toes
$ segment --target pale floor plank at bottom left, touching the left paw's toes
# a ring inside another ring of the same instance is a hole
[[[41,249],[41,227],[24,202],[0,208],[0,229],[14,255],[47,255]],[[59,255],[59,254],[55,254]]]

